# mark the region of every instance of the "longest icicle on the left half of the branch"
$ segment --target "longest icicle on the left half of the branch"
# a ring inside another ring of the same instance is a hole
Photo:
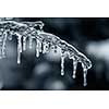
[[[21,52],[22,52],[22,36],[16,34],[17,36],[17,64],[21,63]]]

